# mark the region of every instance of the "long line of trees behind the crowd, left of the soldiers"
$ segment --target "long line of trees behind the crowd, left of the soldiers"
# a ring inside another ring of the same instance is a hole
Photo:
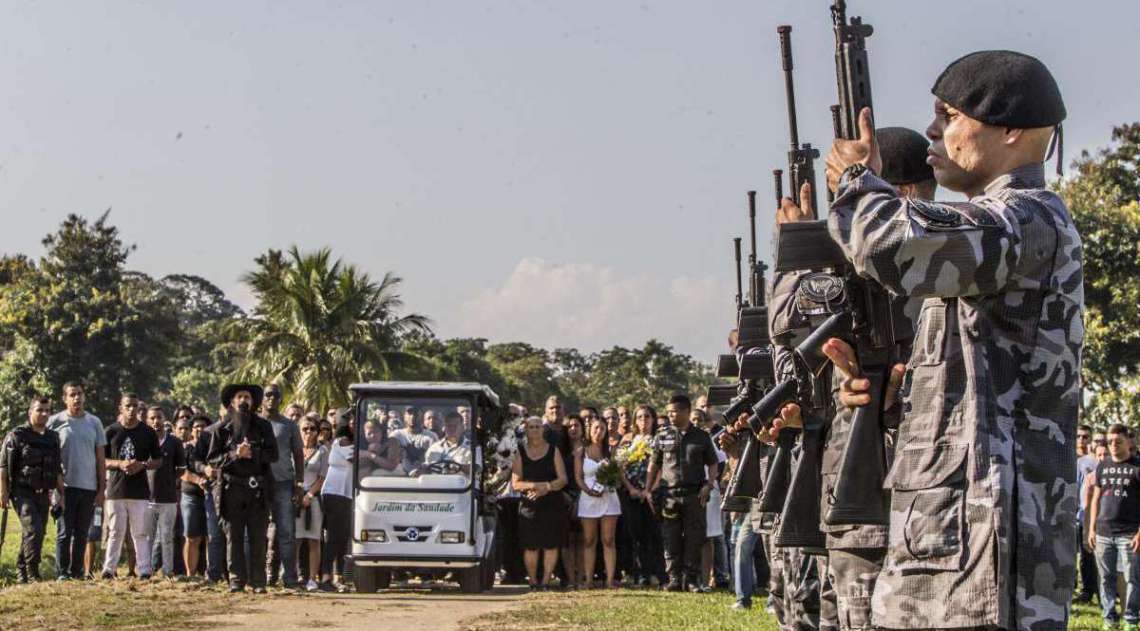
[[[89,408],[114,417],[119,394],[213,411],[229,380],[276,382],[286,400],[324,411],[370,379],[470,380],[538,409],[662,401],[697,393],[709,367],[650,339],[640,349],[547,351],[522,342],[440,339],[406,312],[401,279],[378,280],[328,248],[269,249],[242,277],[246,312],[209,280],[128,268],[109,212],[68,215],[39,260],[0,257],[0,427],[23,423],[28,396],[87,385]]]

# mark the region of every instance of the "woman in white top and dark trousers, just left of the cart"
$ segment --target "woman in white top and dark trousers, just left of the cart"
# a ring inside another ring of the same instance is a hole
[[[344,555],[352,536],[352,429],[339,425],[328,444],[328,469],[320,486],[320,507],[325,517],[325,548],[320,555],[321,591],[348,591],[344,583]],[[333,566],[337,585],[333,587]]]

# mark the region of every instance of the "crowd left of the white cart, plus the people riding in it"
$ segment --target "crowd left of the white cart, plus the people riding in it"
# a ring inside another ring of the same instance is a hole
[[[23,531],[21,582],[41,579],[52,516],[59,581],[161,572],[228,582],[231,591],[349,589],[349,410],[283,410],[278,386],[233,385],[217,418],[190,405],[168,416],[124,393],[105,424],[87,410],[82,384],[66,384],[62,395],[65,409],[55,415],[49,398],[33,398],[27,421],[0,448],[0,506],[15,508]],[[470,465],[459,431],[469,410],[394,413],[365,424],[369,475],[416,476],[445,459]]]

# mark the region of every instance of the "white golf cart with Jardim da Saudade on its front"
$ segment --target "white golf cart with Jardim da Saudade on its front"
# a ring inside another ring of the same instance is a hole
[[[386,589],[393,571],[442,577],[464,592],[495,584],[494,498],[483,494],[482,436],[497,433],[498,396],[480,384],[370,382],[356,398],[352,579],[359,592]],[[412,429],[389,429],[405,423]],[[441,424],[438,440],[421,428]],[[412,434],[409,434],[412,432]],[[391,434],[391,435],[389,435]],[[385,440],[399,440],[405,462],[372,466]],[[430,445],[430,446],[429,446]]]

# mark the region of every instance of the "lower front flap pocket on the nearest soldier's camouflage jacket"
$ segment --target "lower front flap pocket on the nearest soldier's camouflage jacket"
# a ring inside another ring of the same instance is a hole
[[[966,459],[969,445],[944,444],[895,454],[891,489],[891,563],[902,572],[959,569],[964,558]]]

